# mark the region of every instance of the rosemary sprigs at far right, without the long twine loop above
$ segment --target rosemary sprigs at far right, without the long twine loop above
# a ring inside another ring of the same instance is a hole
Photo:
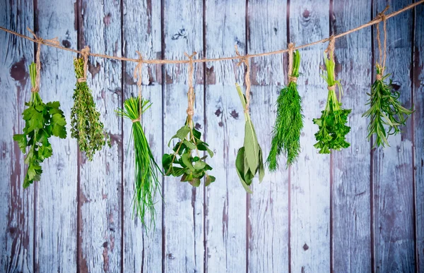
[[[382,68],[377,66],[377,74],[380,73],[382,73]],[[393,91],[391,80],[389,84],[384,83],[389,75],[384,75],[381,79],[375,80],[371,86],[371,94],[367,93],[370,96],[367,102],[370,109],[363,116],[370,117],[367,138],[370,140],[371,136],[375,135],[374,147],[389,146],[387,141],[389,135],[399,133],[401,131],[399,126],[404,126],[408,116],[413,113],[412,109],[402,107],[398,100],[401,93]],[[386,130],[385,126],[389,128]]]

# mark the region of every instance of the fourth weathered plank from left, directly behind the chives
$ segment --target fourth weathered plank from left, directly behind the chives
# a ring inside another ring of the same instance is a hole
[[[160,58],[162,47],[160,1],[143,1],[137,5],[134,5],[133,1],[124,1],[123,4],[124,55],[138,58],[136,51],[139,50],[144,59]],[[124,99],[138,95],[136,82],[133,80],[135,66],[135,63],[124,63]],[[143,114],[143,128],[158,164],[162,162],[163,151],[161,80],[161,66],[143,66],[143,97],[150,99],[153,103],[151,109]],[[158,202],[155,206],[157,212],[155,229],[144,233],[139,219],[133,217],[134,149],[131,126],[131,121],[124,119],[124,272],[160,272],[162,270],[162,200],[158,193]],[[128,151],[127,147],[129,147]]]

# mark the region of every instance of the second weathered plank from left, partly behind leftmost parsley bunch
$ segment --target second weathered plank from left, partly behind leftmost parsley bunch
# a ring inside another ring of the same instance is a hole
[[[77,46],[72,1],[37,1],[37,35],[58,37],[64,47]],[[53,155],[44,164],[37,184],[36,260],[40,272],[76,272],[77,145],[71,138],[70,114],[73,106],[75,73],[73,54],[42,47],[40,95],[45,102],[59,101],[66,116],[66,140],[52,138]],[[57,212],[60,213],[57,213]]]

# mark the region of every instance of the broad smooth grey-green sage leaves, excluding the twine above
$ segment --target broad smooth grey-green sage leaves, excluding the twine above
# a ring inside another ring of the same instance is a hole
[[[254,176],[259,173],[259,182],[262,182],[265,176],[264,159],[262,157],[262,150],[261,146],[259,146],[256,132],[254,131],[252,119],[250,119],[246,97],[240,85],[236,83],[235,86],[242,102],[243,109],[245,109],[246,121],[245,140],[243,142],[243,147],[237,152],[235,168],[237,169],[237,174],[242,182],[243,188],[245,188],[247,193],[253,193],[249,186],[252,184]]]

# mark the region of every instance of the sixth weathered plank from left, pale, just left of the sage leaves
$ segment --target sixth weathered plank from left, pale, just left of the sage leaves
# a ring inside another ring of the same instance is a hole
[[[206,1],[206,58],[241,54],[245,46],[246,1]],[[216,182],[206,188],[206,271],[246,272],[246,192],[235,170],[243,145],[245,118],[235,82],[244,66],[234,61],[206,63],[207,142]]]

